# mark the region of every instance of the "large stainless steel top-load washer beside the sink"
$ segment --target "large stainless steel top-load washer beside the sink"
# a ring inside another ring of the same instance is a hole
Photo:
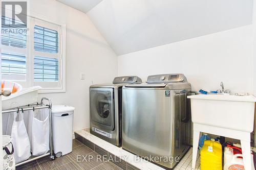
[[[125,85],[122,148],[173,168],[175,158],[181,159],[189,149],[190,91],[191,85],[183,74],[148,76],[146,84]]]

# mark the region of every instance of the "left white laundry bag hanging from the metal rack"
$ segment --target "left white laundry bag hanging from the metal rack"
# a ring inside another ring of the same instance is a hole
[[[29,136],[23,117],[24,115],[22,112],[14,112],[11,137],[14,148],[13,155],[16,163],[25,161],[31,156]]]

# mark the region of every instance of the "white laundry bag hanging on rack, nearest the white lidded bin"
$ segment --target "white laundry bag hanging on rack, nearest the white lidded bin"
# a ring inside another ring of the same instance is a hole
[[[49,109],[30,111],[28,126],[31,152],[33,156],[46,154],[49,149]]]

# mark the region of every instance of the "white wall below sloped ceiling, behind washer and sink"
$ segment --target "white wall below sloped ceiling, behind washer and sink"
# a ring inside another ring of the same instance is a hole
[[[252,25],[118,57],[118,75],[183,73],[194,90],[252,92]]]

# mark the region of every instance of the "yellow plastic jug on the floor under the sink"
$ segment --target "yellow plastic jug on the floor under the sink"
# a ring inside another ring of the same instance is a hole
[[[215,139],[204,141],[201,150],[201,170],[222,170],[222,145]]]

